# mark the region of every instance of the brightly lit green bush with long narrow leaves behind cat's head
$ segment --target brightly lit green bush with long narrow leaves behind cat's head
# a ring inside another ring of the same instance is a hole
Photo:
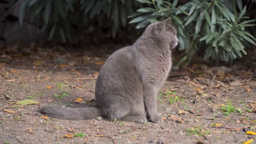
[[[179,49],[185,50],[186,54],[178,65],[183,61],[189,64],[201,51],[205,53],[204,59],[212,58],[217,63],[231,62],[247,54],[244,45],[256,45],[253,35],[245,31],[246,27],[254,26],[255,20],[245,16],[246,6],[242,8],[242,0],[193,0],[178,7],[177,0],[172,3],[162,0],[138,1],[147,5],[129,16],[136,17],[130,23],[137,22],[137,28],[172,17],[178,31]]]

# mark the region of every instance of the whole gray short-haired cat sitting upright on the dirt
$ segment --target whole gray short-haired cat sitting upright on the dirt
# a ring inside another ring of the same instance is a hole
[[[102,116],[110,121],[162,122],[156,97],[171,69],[171,51],[178,45],[171,18],[149,25],[132,46],[114,52],[96,82],[96,106],[62,108],[41,105],[40,112],[60,119]]]

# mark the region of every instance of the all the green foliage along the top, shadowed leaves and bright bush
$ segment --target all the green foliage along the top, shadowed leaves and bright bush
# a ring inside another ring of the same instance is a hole
[[[66,41],[71,39],[73,24],[86,28],[88,21],[103,26],[111,23],[108,28],[115,37],[121,27],[127,27],[127,19],[136,23],[136,28],[143,28],[172,17],[179,50],[185,52],[178,65],[184,61],[189,64],[201,53],[204,59],[218,63],[241,58],[246,55],[245,47],[256,45],[251,34],[256,35],[255,5],[256,0],[191,0],[185,4],[178,0],[24,0],[19,20],[22,24],[30,13],[41,31],[49,32],[49,39]]]

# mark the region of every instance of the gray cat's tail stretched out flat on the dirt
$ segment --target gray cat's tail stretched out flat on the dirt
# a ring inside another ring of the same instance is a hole
[[[69,120],[90,119],[101,116],[101,108],[92,106],[84,108],[57,107],[53,105],[40,105],[40,113],[45,113],[49,117]]]

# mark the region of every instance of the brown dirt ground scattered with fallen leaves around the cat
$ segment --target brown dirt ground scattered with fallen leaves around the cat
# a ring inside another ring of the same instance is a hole
[[[114,47],[113,49],[109,49]],[[67,50],[3,45],[0,143],[243,143],[256,131],[255,57],[229,67],[173,67],[158,96],[163,123],[68,121],[38,113],[39,104],[94,105],[98,71],[117,46]],[[107,50],[108,49],[108,50]],[[174,53],[175,55],[175,53]],[[21,100],[38,104],[15,106]],[[250,132],[249,132],[250,133]]]

